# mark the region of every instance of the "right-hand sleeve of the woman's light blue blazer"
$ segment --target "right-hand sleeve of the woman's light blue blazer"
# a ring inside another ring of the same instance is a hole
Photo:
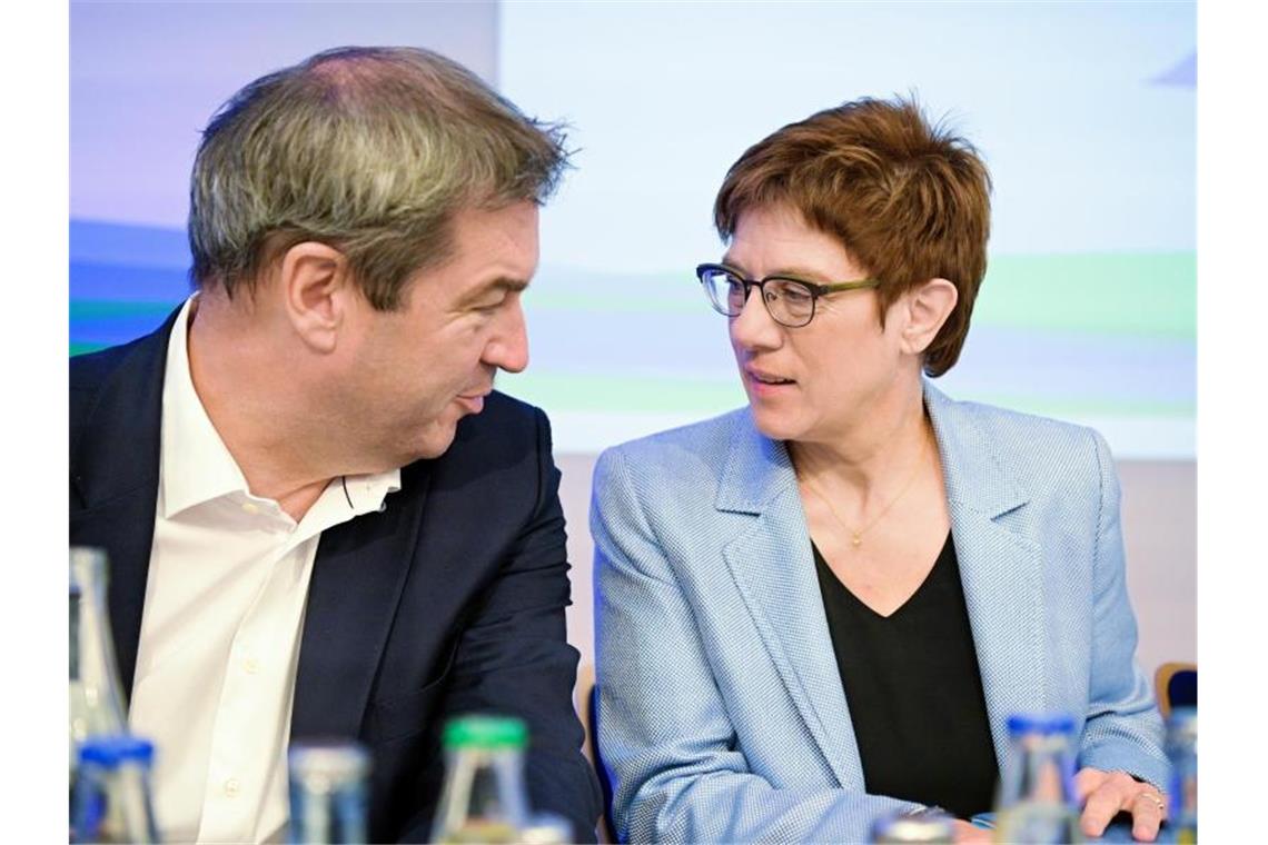
[[[1104,438],[1093,432],[1101,511],[1093,570],[1093,635],[1088,713],[1079,765],[1120,770],[1167,789],[1163,721],[1149,679],[1135,660],[1136,618],[1127,598],[1118,475]]]

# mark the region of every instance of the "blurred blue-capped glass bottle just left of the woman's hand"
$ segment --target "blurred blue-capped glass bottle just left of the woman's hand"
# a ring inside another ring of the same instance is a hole
[[[1074,717],[1008,717],[1008,756],[999,779],[995,841],[1017,845],[1080,842],[1074,794]]]

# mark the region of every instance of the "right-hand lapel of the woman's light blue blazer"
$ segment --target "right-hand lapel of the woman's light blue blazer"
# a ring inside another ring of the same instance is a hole
[[[1044,550],[1013,528],[1027,497],[971,413],[928,383],[924,402],[942,456],[995,759],[1003,760],[1008,716],[1047,702]]]

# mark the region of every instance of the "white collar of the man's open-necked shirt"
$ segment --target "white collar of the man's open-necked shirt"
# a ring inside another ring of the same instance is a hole
[[[251,495],[246,476],[207,416],[189,371],[189,322],[198,308],[197,299],[194,294],[185,300],[167,341],[158,484],[165,519],[223,495]],[[339,489],[327,489],[327,495],[336,493],[344,508],[360,514],[382,508],[387,494],[401,489],[401,470],[336,478],[328,488]]]

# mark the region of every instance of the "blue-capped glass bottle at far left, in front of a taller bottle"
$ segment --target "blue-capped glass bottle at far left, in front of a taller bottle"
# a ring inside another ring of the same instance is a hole
[[[150,766],[153,744],[93,736],[79,749],[74,829],[79,842],[157,842]]]

